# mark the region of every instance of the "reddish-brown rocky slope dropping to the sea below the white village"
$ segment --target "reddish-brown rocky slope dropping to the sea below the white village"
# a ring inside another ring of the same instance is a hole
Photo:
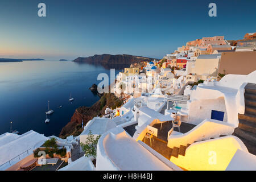
[[[114,96],[112,93],[104,94],[99,101],[97,101],[91,107],[79,107],[76,109],[75,113],[73,114],[71,121],[67,123],[66,126],[60,132],[60,138],[66,138],[69,135],[77,136],[82,132],[82,119],[84,119],[84,126],[88,121],[92,118],[96,117],[97,115],[100,116],[101,114],[105,114],[104,111],[106,107],[119,107],[122,105],[122,101],[119,100],[117,97]]]

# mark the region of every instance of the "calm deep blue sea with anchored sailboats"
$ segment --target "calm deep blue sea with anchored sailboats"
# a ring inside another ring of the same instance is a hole
[[[119,71],[115,69],[115,74]],[[91,106],[100,99],[89,90],[100,82],[100,73],[110,75],[110,69],[72,61],[0,63],[0,134],[10,132],[13,121],[13,130],[20,134],[34,130],[47,137],[59,136],[77,107]],[[70,93],[75,98],[72,104]],[[55,113],[44,123],[48,100]]]

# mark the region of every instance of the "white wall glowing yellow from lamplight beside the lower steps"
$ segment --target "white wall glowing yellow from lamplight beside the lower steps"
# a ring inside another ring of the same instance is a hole
[[[242,141],[234,136],[221,137],[191,144],[185,156],[171,157],[171,162],[187,170],[225,170],[237,150],[247,152]]]

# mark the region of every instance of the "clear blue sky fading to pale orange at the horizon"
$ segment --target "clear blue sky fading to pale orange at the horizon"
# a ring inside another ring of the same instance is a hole
[[[38,4],[46,4],[46,17]],[[217,16],[210,17],[209,3]],[[1,0],[0,57],[76,59],[95,54],[162,58],[205,36],[256,31],[254,0]]]

